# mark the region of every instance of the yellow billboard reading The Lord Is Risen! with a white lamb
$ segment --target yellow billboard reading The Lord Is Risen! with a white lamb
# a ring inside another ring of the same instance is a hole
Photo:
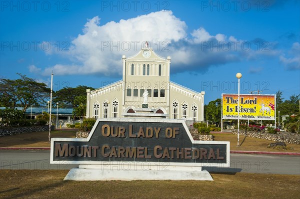
[[[275,95],[239,95],[240,120],[275,120]],[[222,119],[237,119],[238,95],[222,94]]]

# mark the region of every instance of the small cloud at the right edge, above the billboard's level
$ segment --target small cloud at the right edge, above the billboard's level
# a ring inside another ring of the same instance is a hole
[[[284,65],[285,69],[300,69],[300,43],[294,42],[288,54],[290,54],[289,58],[287,58],[285,54],[279,56],[279,61]]]

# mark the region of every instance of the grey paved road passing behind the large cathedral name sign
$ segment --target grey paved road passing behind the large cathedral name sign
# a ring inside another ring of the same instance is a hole
[[[69,170],[77,165],[49,164],[49,150],[0,150],[0,169]],[[230,168],[203,167],[209,172],[300,175],[300,156],[230,154]]]

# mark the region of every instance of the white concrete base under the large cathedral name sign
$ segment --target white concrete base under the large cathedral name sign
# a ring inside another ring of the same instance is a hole
[[[142,166],[114,165],[105,167],[99,165],[79,165],[65,176],[64,180],[70,181],[134,181],[134,180],[196,180],[213,181],[210,174],[201,167],[185,166]]]

